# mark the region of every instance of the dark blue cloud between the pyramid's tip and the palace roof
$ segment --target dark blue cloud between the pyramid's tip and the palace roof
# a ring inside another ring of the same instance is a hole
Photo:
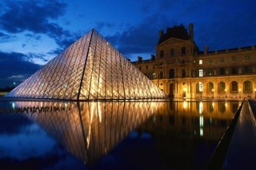
[[[169,19],[162,14],[153,14],[136,26],[128,26],[121,33],[106,36],[121,53],[129,57],[132,53],[155,53],[158,43],[158,31],[166,28]],[[150,56],[148,56],[150,57]]]

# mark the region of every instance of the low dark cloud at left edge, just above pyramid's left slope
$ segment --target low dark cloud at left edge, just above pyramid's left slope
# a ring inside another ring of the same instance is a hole
[[[25,55],[23,53],[4,53],[0,51],[0,88],[13,86],[14,82],[18,85],[41,68],[41,65],[30,62],[30,55],[33,54]]]

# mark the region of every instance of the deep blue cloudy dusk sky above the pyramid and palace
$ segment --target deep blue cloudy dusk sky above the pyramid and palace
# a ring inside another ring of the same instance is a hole
[[[200,50],[256,44],[254,0],[1,0],[0,88],[18,85],[95,29],[131,61],[155,53],[158,32],[188,29]]]

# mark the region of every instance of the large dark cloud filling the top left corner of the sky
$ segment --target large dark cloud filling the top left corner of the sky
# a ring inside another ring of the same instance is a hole
[[[31,32],[26,37],[40,39],[38,34],[46,34],[53,38],[60,47],[74,42],[76,34],[64,30],[62,26],[53,22],[61,17],[66,10],[66,4],[54,1],[6,1],[0,15],[0,28],[10,34]],[[0,34],[1,36],[2,34]]]

